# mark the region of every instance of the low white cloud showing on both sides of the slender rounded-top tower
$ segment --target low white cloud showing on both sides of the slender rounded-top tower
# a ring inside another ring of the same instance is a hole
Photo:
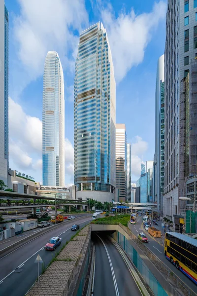
[[[26,114],[22,107],[9,98],[9,158],[12,169],[25,171],[35,180],[42,176],[42,121]],[[74,148],[65,139],[66,183],[73,183]]]

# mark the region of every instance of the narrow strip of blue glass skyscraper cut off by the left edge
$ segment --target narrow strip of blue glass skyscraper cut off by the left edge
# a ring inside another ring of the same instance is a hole
[[[8,169],[8,11],[0,1],[0,180],[7,185]]]

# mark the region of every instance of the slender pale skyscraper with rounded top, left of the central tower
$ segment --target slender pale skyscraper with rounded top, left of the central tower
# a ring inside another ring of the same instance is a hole
[[[65,185],[64,74],[56,51],[47,53],[44,64],[42,110],[43,185]]]

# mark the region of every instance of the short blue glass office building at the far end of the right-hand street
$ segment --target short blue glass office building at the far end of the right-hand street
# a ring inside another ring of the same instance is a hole
[[[141,176],[140,176],[140,202],[141,203],[152,202],[152,175],[153,175],[153,161],[146,161],[146,165],[141,163]],[[138,192],[136,191],[136,193]]]

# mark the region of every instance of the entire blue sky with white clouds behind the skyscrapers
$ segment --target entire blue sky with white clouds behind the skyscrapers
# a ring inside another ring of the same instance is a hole
[[[116,122],[131,143],[131,179],[155,150],[157,61],[167,0],[5,0],[9,11],[9,166],[42,183],[46,54],[58,52],[65,82],[65,184],[73,184],[73,84],[80,33],[101,21],[116,79]]]

